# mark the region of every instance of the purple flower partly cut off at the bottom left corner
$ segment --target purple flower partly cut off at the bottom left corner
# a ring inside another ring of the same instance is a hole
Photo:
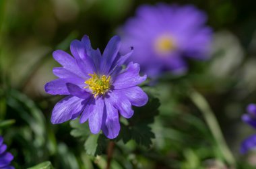
[[[11,161],[13,160],[13,155],[9,152],[6,152],[7,146],[3,144],[3,137],[0,136],[0,169],[14,169],[13,166],[10,166]]]

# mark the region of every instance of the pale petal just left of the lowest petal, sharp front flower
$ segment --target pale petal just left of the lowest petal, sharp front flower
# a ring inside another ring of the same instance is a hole
[[[94,134],[100,132],[104,109],[104,100],[100,97],[95,100],[93,111],[89,117],[90,131]]]

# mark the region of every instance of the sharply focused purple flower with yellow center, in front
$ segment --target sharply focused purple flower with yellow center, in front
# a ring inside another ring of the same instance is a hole
[[[133,50],[121,56],[120,46],[120,38],[114,36],[101,54],[84,36],[82,41],[71,42],[74,57],[62,50],[53,52],[53,58],[63,67],[53,68],[59,78],[46,83],[44,89],[51,95],[67,95],[53,108],[53,124],[80,115],[80,123],[88,120],[92,133],[102,129],[106,137],[113,139],[120,131],[119,113],[130,118],[132,105],[140,107],[148,102],[146,93],[137,87],[146,75],[139,76],[139,64],[133,62],[123,69]]]

